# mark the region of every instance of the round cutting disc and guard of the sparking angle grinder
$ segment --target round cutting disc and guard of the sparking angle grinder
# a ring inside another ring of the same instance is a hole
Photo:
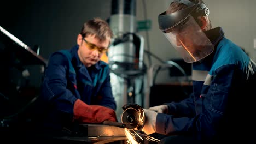
[[[145,124],[145,113],[142,107],[137,104],[126,104],[122,108],[124,112],[121,122],[126,125],[126,128],[141,130]]]

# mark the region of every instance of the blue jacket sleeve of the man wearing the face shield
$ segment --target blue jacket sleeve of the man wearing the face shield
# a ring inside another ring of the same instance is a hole
[[[220,128],[224,113],[228,112],[226,106],[230,100],[230,95],[235,97],[244,84],[245,78],[241,70],[235,65],[225,65],[218,68],[216,75],[212,77],[208,92],[203,98],[202,112],[194,117],[176,117],[158,113],[156,132],[165,135],[190,133],[196,135],[197,139],[212,137],[216,134],[216,129]],[[183,104],[184,102],[173,103],[171,109],[176,110],[176,112],[183,112],[184,107],[187,106]]]

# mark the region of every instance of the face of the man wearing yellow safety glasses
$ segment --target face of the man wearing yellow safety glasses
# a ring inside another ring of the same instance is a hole
[[[109,39],[101,43],[95,35],[89,35],[83,38],[82,35],[79,34],[77,44],[79,45],[78,56],[80,61],[85,67],[91,67],[91,65],[100,61],[103,53],[108,49]]]

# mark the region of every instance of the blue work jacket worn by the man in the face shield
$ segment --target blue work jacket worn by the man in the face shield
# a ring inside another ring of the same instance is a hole
[[[250,81],[255,77],[255,63],[241,47],[224,37],[222,28],[206,31],[206,35],[214,52],[193,63],[190,97],[167,103],[168,114],[158,113],[156,132],[160,134],[192,135],[197,140],[230,136],[232,140],[246,136],[246,130],[255,127],[250,119],[255,113],[251,102],[256,87],[255,81]]]

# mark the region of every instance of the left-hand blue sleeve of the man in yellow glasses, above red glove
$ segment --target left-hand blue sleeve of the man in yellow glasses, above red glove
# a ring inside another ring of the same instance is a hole
[[[61,53],[51,55],[42,83],[42,99],[54,116],[73,118],[73,107],[77,98],[66,88],[68,60]],[[57,121],[57,119],[56,119]]]

